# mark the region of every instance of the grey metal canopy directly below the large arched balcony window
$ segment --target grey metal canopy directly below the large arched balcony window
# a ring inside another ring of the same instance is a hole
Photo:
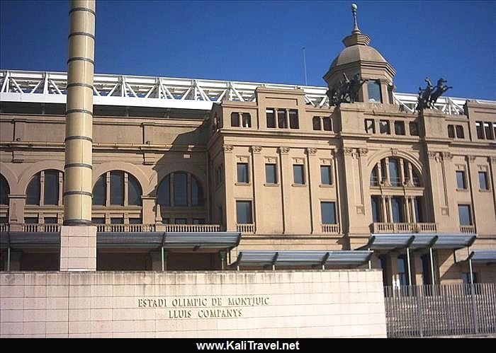
[[[400,248],[410,248],[412,250],[421,248],[456,250],[472,245],[475,238],[477,238],[477,234],[475,233],[372,234],[368,243],[357,250],[393,250]]]

